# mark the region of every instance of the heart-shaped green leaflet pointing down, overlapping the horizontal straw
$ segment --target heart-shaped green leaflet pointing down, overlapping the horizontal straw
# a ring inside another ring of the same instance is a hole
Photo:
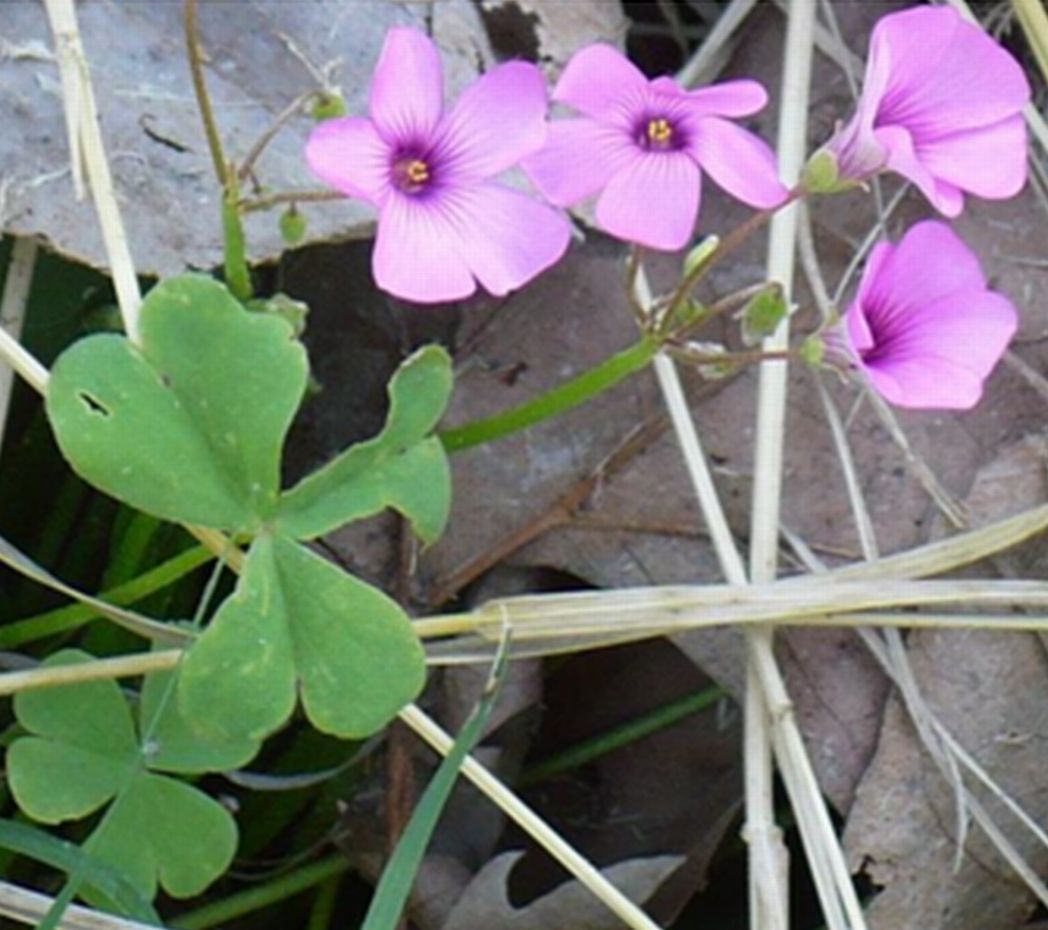
[[[412,700],[424,673],[396,602],[300,543],[263,535],[187,654],[178,697],[201,732],[256,739],[288,718],[298,688],[316,729],[357,738]]]

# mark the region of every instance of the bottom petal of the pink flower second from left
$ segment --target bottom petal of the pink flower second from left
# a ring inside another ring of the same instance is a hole
[[[596,203],[603,230],[628,242],[675,252],[699,212],[700,174],[685,152],[649,152],[617,172]]]

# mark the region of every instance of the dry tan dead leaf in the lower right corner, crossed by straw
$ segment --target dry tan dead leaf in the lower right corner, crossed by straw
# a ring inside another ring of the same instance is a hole
[[[1045,499],[1046,449],[1043,436],[1028,437],[980,471],[966,501],[977,525]],[[1025,572],[1043,567],[1044,557],[1044,544],[1034,540],[1006,558]],[[1045,823],[1048,661],[1039,637],[917,631],[908,646],[931,710],[1035,822]],[[970,778],[968,784],[976,787]],[[982,790],[977,795],[1044,874],[1048,850],[999,801]],[[871,907],[871,930],[1007,930],[1025,922],[1033,896],[986,836],[973,828],[959,870],[956,839],[954,792],[892,698],[846,832],[852,862],[885,886]]]

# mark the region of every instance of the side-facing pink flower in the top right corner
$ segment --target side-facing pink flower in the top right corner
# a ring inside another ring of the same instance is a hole
[[[829,142],[842,178],[888,169],[957,216],[966,191],[998,200],[1026,182],[1030,87],[1016,60],[948,6],[882,17],[858,110]]]

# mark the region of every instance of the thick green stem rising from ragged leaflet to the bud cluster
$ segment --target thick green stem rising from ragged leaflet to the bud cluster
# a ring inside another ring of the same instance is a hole
[[[459,452],[473,446],[494,442],[496,439],[527,429],[578,407],[614,387],[645,368],[658,353],[659,348],[658,340],[645,336],[636,345],[605,359],[596,367],[519,407],[511,407],[495,416],[444,430],[439,434],[440,441],[447,452]]]

